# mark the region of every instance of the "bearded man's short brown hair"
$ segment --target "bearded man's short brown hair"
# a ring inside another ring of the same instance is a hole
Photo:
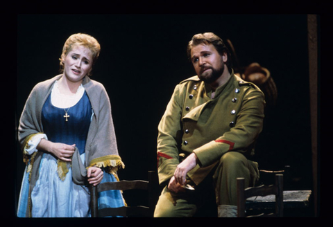
[[[228,66],[229,71],[231,70],[230,52],[227,46],[225,46],[223,40],[214,33],[198,33],[192,37],[191,41],[187,45],[187,57],[189,57],[189,60],[191,60],[191,49],[193,46],[198,46],[199,44],[212,44],[220,55],[226,53],[228,60],[225,62],[225,64]]]

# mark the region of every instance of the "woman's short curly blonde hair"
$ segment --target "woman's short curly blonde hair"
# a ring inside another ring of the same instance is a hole
[[[66,40],[63,48],[62,54],[60,57],[60,72],[64,71],[64,63],[63,60],[67,56],[67,54],[75,47],[75,46],[84,46],[89,48],[92,51],[92,64],[96,62],[99,58],[99,53],[101,52],[101,45],[97,40],[92,37],[91,35],[83,34],[83,33],[76,33]]]

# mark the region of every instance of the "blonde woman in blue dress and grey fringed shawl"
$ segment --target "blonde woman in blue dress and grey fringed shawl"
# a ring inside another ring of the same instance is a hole
[[[118,154],[105,88],[91,80],[99,42],[71,35],[62,49],[62,74],[38,83],[19,121],[26,171],[18,217],[89,217],[88,185],[117,181]],[[101,192],[100,207],[123,206],[120,191]]]

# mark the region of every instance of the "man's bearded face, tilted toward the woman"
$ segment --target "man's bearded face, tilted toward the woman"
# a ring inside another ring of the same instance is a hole
[[[191,62],[194,70],[200,80],[209,84],[222,75],[227,60],[227,55],[223,53],[221,56],[212,44],[199,44],[191,49]]]

